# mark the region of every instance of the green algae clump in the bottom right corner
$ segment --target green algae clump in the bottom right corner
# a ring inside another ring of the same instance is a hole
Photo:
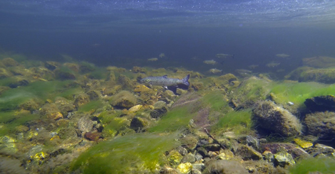
[[[292,174],[307,174],[307,173],[334,173],[335,159],[329,157],[307,158],[298,161],[297,165],[289,168]]]

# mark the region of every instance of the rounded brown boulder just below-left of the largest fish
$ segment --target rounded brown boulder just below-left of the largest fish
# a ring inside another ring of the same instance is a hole
[[[134,94],[128,91],[121,91],[112,97],[110,104],[113,107],[130,108],[135,106],[137,99]]]

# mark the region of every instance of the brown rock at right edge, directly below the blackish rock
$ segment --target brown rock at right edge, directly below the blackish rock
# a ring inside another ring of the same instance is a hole
[[[311,135],[323,139],[331,139],[335,136],[335,112],[306,114],[304,123]]]

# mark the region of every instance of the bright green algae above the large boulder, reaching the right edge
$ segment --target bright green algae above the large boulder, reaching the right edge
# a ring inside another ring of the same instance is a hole
[[[282,82],[272,86],[274,101],[279,104],[293,102],[303,107],[304,101],[311,97],[334,94],[335,85],[324,85],[317,82]]]

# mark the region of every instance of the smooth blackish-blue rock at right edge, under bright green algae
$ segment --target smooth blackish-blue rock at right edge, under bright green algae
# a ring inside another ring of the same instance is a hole
[[[304,104],[311,112],[335,111],[335,97],[332,95],[312,97],[306,99]]]

